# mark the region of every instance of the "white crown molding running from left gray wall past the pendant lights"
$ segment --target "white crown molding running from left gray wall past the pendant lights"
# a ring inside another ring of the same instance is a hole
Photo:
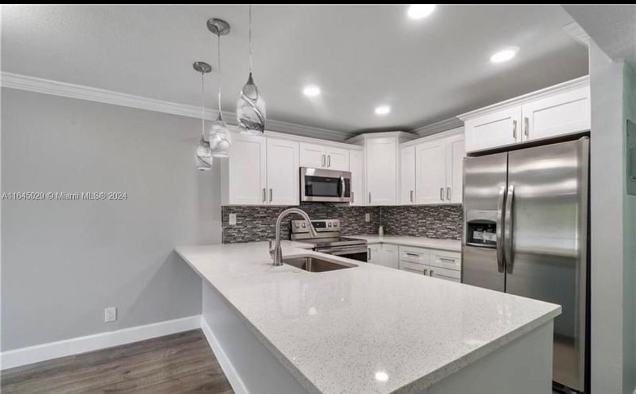
[[[0,73],[0,86],[3,88],[26,90],[28,92],[43,93],[60,97],[77,98],[78,100],[88,100],[104,104],[145,109],[146,111],[187,116],[188,118],[201,118],[201,107],[197,107],[195,105],[155,100],[154,98],[135,96],[127,93],[114,92],[113,90],[93,88],[91,86],[76,85],[74,83],[53,81],[52,79],[14,74],[13,72],[3,71]],[[218,111],[206,108],[204,111],[204,118],[214,119],[217,114]],[[236,114],[234,112],[223,111],[223,117],[225,119],[236,119]],[[233,125],[236,124],[235,121],[230,121],[228,123]],[[343,141],[354,135],[354,133],[296,125],[295,123],[270,119],[267,119],[266,126],[267,130],[271,130],[273,132],[335,141]]]

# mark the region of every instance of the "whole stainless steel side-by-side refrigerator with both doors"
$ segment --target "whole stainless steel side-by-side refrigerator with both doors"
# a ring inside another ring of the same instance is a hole
[[[553,380],[585,391],[590,139],[464,160],[462,282],[562,306]]]

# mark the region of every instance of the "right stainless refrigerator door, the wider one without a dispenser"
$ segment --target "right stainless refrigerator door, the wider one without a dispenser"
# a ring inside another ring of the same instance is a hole
[[[508,153],[506,292],[560,304],[553,379],[584,390],[589,139]],[[508,242],[509,241],[509,242]]]

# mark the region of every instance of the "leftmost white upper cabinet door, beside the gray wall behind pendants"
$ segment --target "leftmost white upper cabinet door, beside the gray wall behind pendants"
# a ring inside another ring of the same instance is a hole
[[[266,139],[232,133],[228,158],[228,202],[232,205],[266,204]]]

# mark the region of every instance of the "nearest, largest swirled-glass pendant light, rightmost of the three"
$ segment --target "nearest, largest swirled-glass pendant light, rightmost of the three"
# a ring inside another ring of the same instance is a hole
[[[252,79],[252,4],[249,4],[249,76],[237,100],[237,121],[241,133],[261,135],[265,132],[265,100]]]

